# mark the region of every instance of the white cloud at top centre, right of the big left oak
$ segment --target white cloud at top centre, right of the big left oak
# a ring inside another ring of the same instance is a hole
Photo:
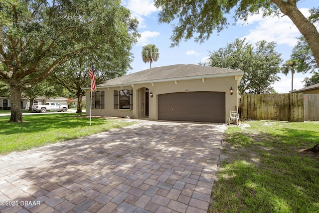
[[[125,0],[122,5],[130,9],[133,17],[140,22],[139,27],[145,28],[145,19],[143,16],[150,16],[153,12],[158,11],[153,0]]]

